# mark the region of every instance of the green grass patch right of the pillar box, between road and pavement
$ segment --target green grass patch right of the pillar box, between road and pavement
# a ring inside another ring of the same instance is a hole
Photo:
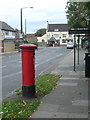
[[[56,86],[60,75],[45,74],[36,78],[36,92],[40,94],[48,94]]]

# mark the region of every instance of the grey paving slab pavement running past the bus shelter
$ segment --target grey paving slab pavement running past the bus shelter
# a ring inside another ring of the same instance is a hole
[[[51,71],[60,74],[58,85],[46,95],[30,118],[88,118],[88,78],[85,78],[84,51],[73,71],[73,52]]]

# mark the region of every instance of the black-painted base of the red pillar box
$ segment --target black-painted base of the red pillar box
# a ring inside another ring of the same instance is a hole
[[[36,97],[35,85],[22,86],[22,96],[27,98],[35,98]]]

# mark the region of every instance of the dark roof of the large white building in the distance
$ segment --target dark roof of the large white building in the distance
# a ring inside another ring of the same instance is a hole
[[[59,32],[68,30],[68,24],[48,24],[48,32]]]

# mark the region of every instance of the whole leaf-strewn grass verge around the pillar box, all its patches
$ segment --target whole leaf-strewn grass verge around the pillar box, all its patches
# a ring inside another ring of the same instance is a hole
[[[36,78],[36,93],[46,95],[55,88],[60,75],[45,74]],[[16,90],[16,94],[21,96],[22,90]],[[30,115],[37,109],[40,104],[40,99],[14,99],[2,103],[2,118],[29,118]]]

